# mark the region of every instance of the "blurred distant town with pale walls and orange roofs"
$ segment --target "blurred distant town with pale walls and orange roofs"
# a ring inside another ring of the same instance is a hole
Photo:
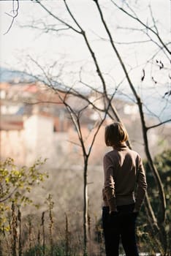
[[[18,82],[16,80],[0,83],[1,96],[1,159],[12,157],[20,165],[29,165],[38,157],[47,158],[48,164],[57,166],[78,163],[82,151],[77,132],[72,124],[66,106],[59,94],[39,82]],[[61,94],[64,97],[64,94]],[[85,105],[83,99],[67,95],[69,104],[77,109]],[[90,99],[98,98],[91,93]],[[113,102],[129,131],[132,147],[145,156],[142,144],[142,131],[137,106],[114,98]],[[98,101],[100,105],[100,99]],[[86,146],[91,141],[91,129],[98,120],[91,107],[82,116],[81,127]],[[148,119],[147,119],[148,120]],[[104,125],[111,122],[107,117]],[[151,118],[148,120],[151,123]],[[92,165],[102,164],[102,155],[107,151],[104,146],[104,125],[99,130],[92,150]],[[149,132],[153,156],[170,146],[171,124],[165,124]]]

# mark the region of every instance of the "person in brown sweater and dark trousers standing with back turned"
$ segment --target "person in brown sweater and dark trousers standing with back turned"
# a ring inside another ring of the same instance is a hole
[[[138,256],[135,227],[147,189],[145,170],[139,154],[126,146],[128,134],[121,123],[108,125],[104,140],[113,148],[103,159],[102,222],[106,255],[118,256],[121,236],[126,256]]]

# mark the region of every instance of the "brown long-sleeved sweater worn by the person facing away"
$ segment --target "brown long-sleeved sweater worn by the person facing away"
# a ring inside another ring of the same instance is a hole
[[[104,155],[102,194],[104,206],[110,206],[110,211],[132,203],[135,203],[134,211],[140,211],[146,189],[145,170],[137,152],[123,143]]]

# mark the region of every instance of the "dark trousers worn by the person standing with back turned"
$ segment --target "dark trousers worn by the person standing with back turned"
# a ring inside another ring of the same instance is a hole
[[[138,256],[136,243],[137,213],[133,213],[134,204],[118,206],[118,212],[109,214],[109,207],[102,209],[102,224],[104,243],[107,256],[119,255],[119,241],[121,238],[126,256]]]

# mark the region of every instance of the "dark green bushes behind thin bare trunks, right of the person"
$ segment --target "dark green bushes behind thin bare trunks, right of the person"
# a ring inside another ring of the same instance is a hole
[[[164,222],[164,230],[165,230],[166,236],[163,236],[162,238],[160,238],[158,232],[156,232],[155,236],[153,235],[153,230],[151,229],[151,224],[149,222],[149,219],[147,218],[145,207],[142,207],[142,211],[140,212],[140,218],[138,218],[138,230],[137,230],[140,244],[142,244],[142,246],[145,245],[148,251],[151,251],[152,255],[154,254],[154,252],[157,252],[157,250],[159,249],[162,251],[163,244],[167,245],[167,250],[169,250],[171,246],[171,241],[170,241],[170,237],[171,237],[170,236],[171,235],[170,234],[171,233],[171,230],[170,230],[171,150],[168,149],[167,151],[164,151],[161,154],[157,155],[154,158],[154,163],[157,169],[159,170],[159,175],[161,176],[161,181],[164,186],[164,194],[167,202],[166,220]],[[161,219],[161,202],[159,200],[159,191],[156,188],[155,178],[151,174],[150,168],[148,166],[148,162],[145,162],[144,165],[146,170],[146,176],[147,176],[147,182],[148,182],[148,195],[151,200],[151,206],[153,207],[153,210],[156,213],[156,216],[158,217],[158,219]],[[163,244],[160,244],[159,241],[164,241],[164,242]]]

